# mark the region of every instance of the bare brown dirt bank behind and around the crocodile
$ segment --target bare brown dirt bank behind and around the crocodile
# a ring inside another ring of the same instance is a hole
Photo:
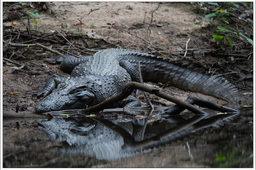
[[[150,52],[155,55],[168,57],[171,60],[188,63],[210,73],[227,73],[225,77],[239,86],[241,94],[253,92],[253,79],[243,79],[244,77],[253,76],[252,59],[246,60],[238,55],[234,56],[235,62],[232,62],[230,55],[220,55],[212,51],[208,51],[203,55],[197,55],[194,51],[188,51],[186,57],[184,57],[184,51],[179,53],[161,52],[177,51],[179,48],[185,49],[189,38],[191,40],[188,43],[188,49],[220,49],[220,45],[217,45],[211,37],[213,33],[216,33],[216,27],[209,20],[203,19],[206,11],[202,11],[198,5],[163,2],[158,7],[158,3],[143,2],[55,2],[49,3],[51,10],[48,11],[42,11],[37,5],[37,3],[26,3],[26,5],[18,8],[20,11],[37,12],[40,14],[40,18],[37,18],[39,22],[36,29],[38,31],[32,30],[35,29],[35,25],[30,20],[30,29],[34,34],[40,34],[40,32],[51,33],[54,32],[53,30],[58,30],[63,36],[67,35],[68,37],[70,32],[72,32],[73,38],[70,38],[69,41],[74,45],[79,44],[85,49],[128,48]],[[8,5],[4,5],[4,9],[7,7]],[[152,18],[152,11],[156,8],[157,10],[154,11]],[[7,12],[6,15],[8,14]],[[201,24],[194,23],[198,19],[201,20]],[[75,26],[74,24],[79,22],[79,20],[85,22],[85,24]],[[151,21],[149,31],[148,26]],[[15,22],[15,26],[13,22]],[[5,28],[12,27],[10,29],[12,31],[18,30],[21,34],[27,34],[26,26],[28,26],[28,20],[26,18],[6,19],[3,24]],[[8,36],[6,35],[6,37]],[[12,38],[15,39],[17,36]],[[8,38],[4,38],[4,40],[6,39]],[[19,35],[17,38],[17,41],[20,43],[28,40],[31,39],[22,35]],[[150,40],[151,45],[146,43],[147,40]],[[48,41],[48,45],[52,43],[50,40]],[[58,45],[57,47],[52,46],[52,49],[61,53],[66,51],[65,54],[70,52],[81,57],[95,52],[72,49],[72,46],[69,44],[67,46],[67,43],[64,43],[64,46],[62,40],[56,41]],[[33,42],[30,41],[30,43]],[[45,41],[44,43],[47,44]],[[243,49],[240,49],[239,46],[239,50],[252,50],[249,47],[248,44]],[[68,48],[70,48],[70,51],[67,50]],[[221,48],[230,50],[225,46]],[[219,51],[219,53],[222,52]],[[25,67],[20,67],[20,65],[6,60],[3,61],[4,111],[16,111],[16,109],[23,113],[34,111],[34,106],[42,99],[37,99],[32,94],[39,92],[46,80],[52,77],[45,69],[60,77],[69,77],[68,74],[58,69],[59,66],[52,66],[43,62],[44,58],[54,55],[37,47],[31,47],[30,53],[26,48],[9,47],[9,50],[3,55],[4,58],[9,58]],[[17,69],[17,67],[20,68]],[[229,74],[230,72],[237,73]],[[148,84],[153,84],[153,82]],[[162,86],[157,84],[157,82],[154,85]],[[194,94],[170,86],[163,90],[166,90],[169,94],[177,95],[183,100],[190,94]],[[10,92],[21,93],[10,95]],[[214,97],[201,94],[195,95],[219,104],[225,104],[224,101]],[[154,96],[151,96],[151,98],[159,100]],[[252,105],[252,99],[252,94],[241,95],[241,105]],[[163,102],[173,105],[164,100]]]

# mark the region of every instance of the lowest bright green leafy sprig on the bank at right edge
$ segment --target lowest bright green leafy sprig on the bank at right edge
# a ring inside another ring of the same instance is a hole
[[[223,27],[217,27],[218,30],[216,30],[216,32],[222,32],[225,34],[225,36],[223,35],[216,35],[216,34],[213,34],[212,37],[218,41],[219,43],[222,41],[222,39],[225,37],[225,39],[228,41],[230,47],[232,46],[232,40],[229,38],[229,36],[226,34],[226,33],[231,33],[233,34],[234,36],[236,37],[243,37],[245,38],[253,47],[253,40],[251,38],[248,38],[246,37],[244,34],[242,33],[237,33],[237,32],[234,32],[234,31],[230,31],[230,30],[227,30]]]

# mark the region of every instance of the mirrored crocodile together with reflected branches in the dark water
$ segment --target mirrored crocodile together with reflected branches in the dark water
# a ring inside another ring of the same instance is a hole
[[[151,120],[55,117],[49,121],[38,120],[38,127],[50,140],[63,142],[59,152],[85,154],[109,161],[150,152],[166,142],[176,141],[236,115],[196,115],[189,119],[177,115]]]

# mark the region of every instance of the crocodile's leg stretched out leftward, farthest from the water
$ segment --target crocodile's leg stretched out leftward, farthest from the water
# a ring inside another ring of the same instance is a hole
[[[48,58],[45,61],[51,65],[60,64],[61,70],[71,73],[75,66],[88,62],[90,57],[91,55],[84,56],[82,58],[76,58],[73,55],[59,55],[53,58]]]

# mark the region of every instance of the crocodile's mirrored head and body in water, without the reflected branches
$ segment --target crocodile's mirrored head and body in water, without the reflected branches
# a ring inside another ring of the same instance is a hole
[[[133,126],[133,123],[134,121],[119,122],[117,126],[122,126],[130,135],[132,131],[140,133],[141,130],[135,129],[143,126]],[[65,153],[83,153],[104,160],[119,159],[140,153],[138,149],[124,149],[124,139],[121,135],[90,118],[53,118],[51,121],[41,119],[38,120],[38,126],[52,141],[66,141],[69,146],[60,149]]]

